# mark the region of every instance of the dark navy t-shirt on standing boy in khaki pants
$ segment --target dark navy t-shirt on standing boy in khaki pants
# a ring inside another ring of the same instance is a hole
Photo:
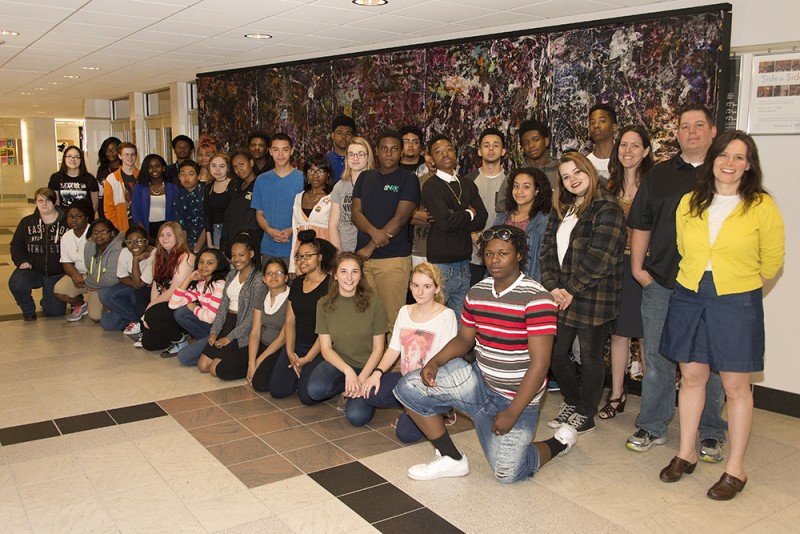
[[[405,169],[398,168],[389,174],[377,170],[364,171],[358,177],[353,198],[361,199],[361,212],[375,228],[386,226],[397,212],[401,200],[419,204],[419,179]],[[366,232],[358,231],[356,250],[371,240]],[[397,232],[386,246],[375,249],[372,258],[402,258],[411,255],[408,225]]]

